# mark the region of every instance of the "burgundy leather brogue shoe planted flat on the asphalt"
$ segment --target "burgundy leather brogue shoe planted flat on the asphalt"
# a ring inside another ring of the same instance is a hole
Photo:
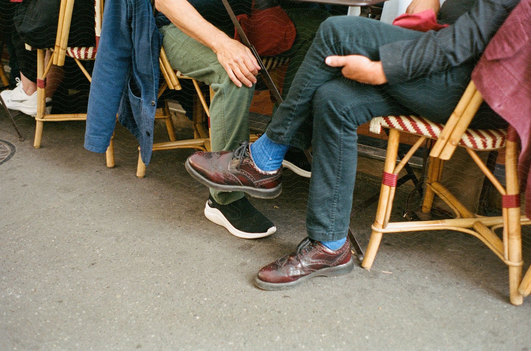
[[[264,290],[290,289],[316,276],[349,273],[353,267],[348,238],[337,250],[330,250],[321,242],[306,238],[294,253],[260,269],[254,284]]]

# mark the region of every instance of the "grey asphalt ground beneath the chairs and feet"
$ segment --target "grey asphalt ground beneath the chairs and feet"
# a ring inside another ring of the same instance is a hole
[[[83,149],[83,122],[45,123],[34,149],[35,121],[16,121],[23,142],[0,114],[0,139],[16,147],[0,165],[0,350],[531,349],[531,298],[508,302],[507,267],[472,236],[384,236],[371,271],[261,291],[258,269],[305,236],[307,179],[286,171],[279,197],[251,199],[278,230],[239,239],[204,218],[207,188],[183,165],[191,150],[156,152],[139,179],[121,127],[108,169]],[[378,167],[361,162],[355,208],[378,192],[362,174]],[[353,214],[362,247],[375,208]]]

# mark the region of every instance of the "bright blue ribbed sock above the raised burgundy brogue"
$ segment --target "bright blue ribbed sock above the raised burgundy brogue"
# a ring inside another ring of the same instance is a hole
[[[288,149],[289,145],[276,143],[264,133],[251,144],[251,157],[256,167],[261,170],[275,170],[282,166],[282,160]]]

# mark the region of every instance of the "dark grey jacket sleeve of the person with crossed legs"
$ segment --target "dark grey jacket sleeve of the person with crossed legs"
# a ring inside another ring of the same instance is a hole
[[[496,30],[520,0],[478,0],[455,24],[415,40],[380,47],[389,83],[400,83],[459,66],[485,50]]]

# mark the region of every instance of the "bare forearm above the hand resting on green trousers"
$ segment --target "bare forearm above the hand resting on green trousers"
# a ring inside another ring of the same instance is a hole
[[[157,10],[164,13],[175,26],[189,37],[217,52],[227,35],[205,20],[186,0],[155,0]]]

